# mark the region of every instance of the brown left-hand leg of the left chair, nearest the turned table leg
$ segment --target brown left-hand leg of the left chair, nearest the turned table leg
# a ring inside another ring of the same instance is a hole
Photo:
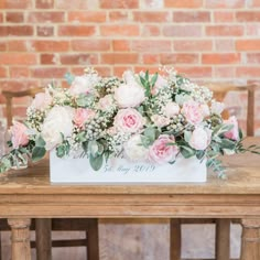
[[[36,218],[36,256],[37,260],[52,260],[52,219]]]

